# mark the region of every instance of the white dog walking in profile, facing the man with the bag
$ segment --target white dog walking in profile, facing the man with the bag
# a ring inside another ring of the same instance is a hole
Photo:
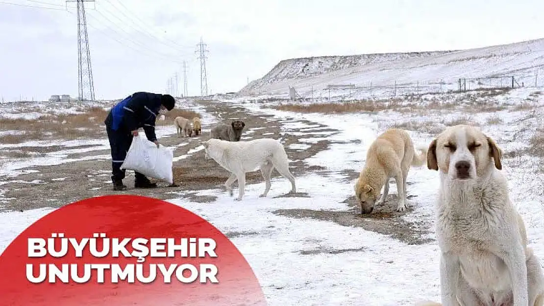
[[[231,172],[231,176],[225,182],[225,187],[232,196],[232,184],[238,180],[238,198],[240,201],[244,196],[245,173],[261,169],[265,180],[266,188],[261,195],[265,197],[270,190],[270,179],[272,170],[286,177],[291,182],[290,192],[296,192],[295,177],[289,171],[289,160],[285,148],[279,140],[255,139],[251,141],[225,141],[210,139],[201,142],[206,151],[206,158],[212,158],[217,163]]]

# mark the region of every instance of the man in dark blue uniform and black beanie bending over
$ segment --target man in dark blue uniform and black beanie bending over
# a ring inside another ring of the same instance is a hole
[[[159,147],[155,134],[155,121],[160,110],[174,109],[175,99],[159,93],[135,92],[115,104],[109,111],[104,123],[112,148],[112,182],[114,190],[127,190],[123,184],[125,170],[121,165],[131,147],[133,136],[138,136],[138,129],[144,128],[145,136]],[[156,188],[144,174],[135,172],[134,188]]]

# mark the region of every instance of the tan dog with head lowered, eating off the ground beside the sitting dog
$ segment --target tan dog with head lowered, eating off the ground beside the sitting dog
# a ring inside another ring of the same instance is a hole
[[[372,142],[368,148],[366,164],[354,187],[357,201],[361,203],[361,214],[372,213],[375,203],[385,203],[390,178],[397,182],[397,211],[406,209],[408,171],[411,166],[421,167],[425,164],[426,148],[420,150],[422,154],[416,154],[410,135],[401,129],[388,129]],[[376,202],[382,188],[384,193]]]

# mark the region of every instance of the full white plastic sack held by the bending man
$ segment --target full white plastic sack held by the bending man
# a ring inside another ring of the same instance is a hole
[[[134,170],[146,177],[172,184],[174,183],[173,161],[174,152],[171,149],[163,146],[157,148],[154,142],[141,136],[134,136],[121,169]]]

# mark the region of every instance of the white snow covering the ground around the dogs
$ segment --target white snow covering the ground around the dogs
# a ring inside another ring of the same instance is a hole
[[[527,101],[530,92],[516,91],[497,97],[505,103]],[[412,168],[409,173],[408,203],[413,210],[402,216],[406,221],[418,221],[431,229],[430,242],[409,245],[390,236],[356,226],[343,226],[334,221],[298,218],[279,214],[280,210],[307,209],[313,211],[350,211],[346,199],[353,196],[353,178],[346,170],[358,172],[364,164],[366,150],[388,124],[403,121],[432,121],[436,126],[464,114],[451,113],[323,115],[299,114],[261,108],[261,103],[243,103],[245,99],[230,100],[233,107],[244,107],[259,115],[273,115],[283,122],[281,135],[304,135],[313,124],[324,124],[338,130],[324,130],[316,136],[299,139],[291,148],[304,150],[318,140],[331,141],[329,149],[308,158],[310,165],[323,166],[326,176],[309,173],[296,177],[299,192],[309,197],[277,197],[288,192],[285,178],[274,179],[267,198],[258,195],[264,183],[246,186],[242,202],[234,202],[222,189],[197,191],[200,196],[216,196],[211,205],[192,202],[187,198],[171,201],[206,218],[224,233],[240,233],[232,238],[234,244],[254,269],[271,306],[283,305],[412,305],[421,299],[440,301],[438,278],[438,246],[434,239],[434,199],[437,172],[425,167]],[[239,103],[240,104],[237,104]],[[537,97],[531,103],[542,103]],[[504,110],[497,114],[473,116],[485,133],[496,138],[505,151],[523,148],[531,130],[541,124],[544,112],[529,114],[527,110]],[[498,116],[502,121],[488,124]],[[300,120],[312,122],[303,124]],[[258,127],[251,129],[258,134]],[[168,131],[167,131],[168,132]],[[165,132],[166,133],[166,132]],[[427,146],[435,134],[410,131],[416,145]],[[357,142],[360,141],[360,142]],[[96,145],[101,146],[102,143]],[[194,145],[194,150],[201,149]],[[182,157],[182,158],[190,158]],[[39,159],[35,160],[39,163]],[[505,158],[504,170],[509,177],[510,195],[527,223],[530,246],[544,263],[544,176],[531,174],[540,163],[532,157]],[[16,179],[16,178],[14,178]],[[517,188],[516,186],[523,186]],[[237,190],[234,190],[236,193]],[[391,193],[396,194],[395,184]],[[28,210],[22,213],[0,213],[0,250],[24,228],[47,214],[51,209]],[[354,213],[355,214],[355,213]],[[376,222],[387,220],[376,219]]]

